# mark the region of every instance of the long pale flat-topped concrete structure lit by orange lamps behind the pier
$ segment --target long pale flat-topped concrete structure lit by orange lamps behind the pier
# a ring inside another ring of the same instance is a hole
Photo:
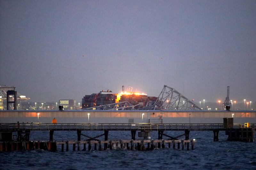
[[[0,111],[0,123],[223,123],[234,117],[234,123],[256,123],[255,111],[99,111],[99,110],[6,110]]]

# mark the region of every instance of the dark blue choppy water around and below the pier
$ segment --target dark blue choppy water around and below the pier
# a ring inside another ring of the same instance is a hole
[[[82,133],[92,137],[101,134],[96,131]],[[182,132],[166,133],[178,136]],[[49,139],[49,132],[46,131],[32,131],[30,134],[30,140]],[[153,151],[117,149],[60,152],[58,145],[59,152],[1,152],[0,169],[256,169],[256,143],[226,141],[227,136],[222,131],[219,142],[213,142],[212,131],[191,131],[189,137],[197,141],[193,151],[165,148]],[[76,138],[76,131],[54,132],[54,140]],[[130,138],[129,131],[109,131],[109,139]],[[157,133],[151,133],[151,138],[157,139]],[[103,137],[100,139],[103,140]]]

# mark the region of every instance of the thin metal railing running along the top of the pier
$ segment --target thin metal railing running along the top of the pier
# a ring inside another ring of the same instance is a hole
[[[254,128],[255,124],[251,124]],[[239,128],[239,126],[234,126]],[[0,131],[18,130],[225,130],[223,123],[0,123]]]

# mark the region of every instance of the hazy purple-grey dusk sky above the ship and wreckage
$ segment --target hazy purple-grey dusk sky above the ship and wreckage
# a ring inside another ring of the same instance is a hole
[[[167,85],[255,102],[255,28],[255,0],[0,0],[0,84],[31,101]]]

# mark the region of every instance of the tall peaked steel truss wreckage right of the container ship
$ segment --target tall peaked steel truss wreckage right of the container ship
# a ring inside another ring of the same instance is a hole
[[[174,88],[164,85],[154,104],[143,107],[142,110],[201,110],[201,108]]]

